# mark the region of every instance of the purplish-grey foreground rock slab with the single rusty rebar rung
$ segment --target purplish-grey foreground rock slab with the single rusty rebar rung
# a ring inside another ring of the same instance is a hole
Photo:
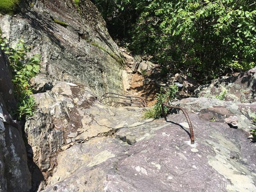
[[[255,191],[256,148],[247,132],[190,118],[195,144],[176,114],[74,145],[59,153],[44,191]]]

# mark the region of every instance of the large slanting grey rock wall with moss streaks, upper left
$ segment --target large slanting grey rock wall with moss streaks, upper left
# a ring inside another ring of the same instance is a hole
[[[52,79],[86,84],[97,96],[122,92],[122,59],[105,21],[90,0],[80,0],[79,9],[73,0],[39,0],[19,15],[0,17],[0,28],[12,46],[18,39],[31,45]]]

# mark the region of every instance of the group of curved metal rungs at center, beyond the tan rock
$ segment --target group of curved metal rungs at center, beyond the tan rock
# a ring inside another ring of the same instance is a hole
[[[106,104],[111,104],[113,107],[119,106],[132,106],[132,107],[146,107],[146,101],[138,96],[125,96],[117,93],[105,93],[102,95],[100,102],[105,99],[115,99],[115,100],[107,100]]]

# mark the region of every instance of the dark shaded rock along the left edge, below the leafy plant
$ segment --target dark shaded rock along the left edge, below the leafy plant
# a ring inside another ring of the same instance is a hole
[[[7,109],[15,100],[7,63],[0,51],[0,191],[21,192],[31,188],[22,129]]]

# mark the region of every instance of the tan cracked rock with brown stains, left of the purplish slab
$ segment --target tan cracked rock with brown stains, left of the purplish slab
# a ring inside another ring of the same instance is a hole
[[[112,137],[122,127],[135,127],[152,121],[141,118],[142,108],[111,108],[96,100],[85,86],[44,76],[33,79],[37,110],[26,119],[28,153],[45,179],[58,164],[57,154],[94,137]],[[35,174],[39,171],[33,170]],[[35,188],[44,182],[34,183]],[[43,184],[42,184],[43,183]]]

